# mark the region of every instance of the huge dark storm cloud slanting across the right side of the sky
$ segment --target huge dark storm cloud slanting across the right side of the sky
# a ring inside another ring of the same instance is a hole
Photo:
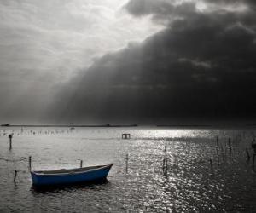
[[[156,123],[256,116],[254,2],[236,1],[249,6],[247,11],[198,11],[195,3],[168,2],[125,5],[132,15],[162,14],[171,20],[143,43],[104,55],[81,72],[60,95],[58,103],[65,106],[60,113],[66,117],[56,117]]]

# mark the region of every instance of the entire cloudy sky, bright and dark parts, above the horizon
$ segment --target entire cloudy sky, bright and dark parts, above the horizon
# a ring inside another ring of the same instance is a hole
[[[0,123],[255,118],[253,0],[3,0]]]

